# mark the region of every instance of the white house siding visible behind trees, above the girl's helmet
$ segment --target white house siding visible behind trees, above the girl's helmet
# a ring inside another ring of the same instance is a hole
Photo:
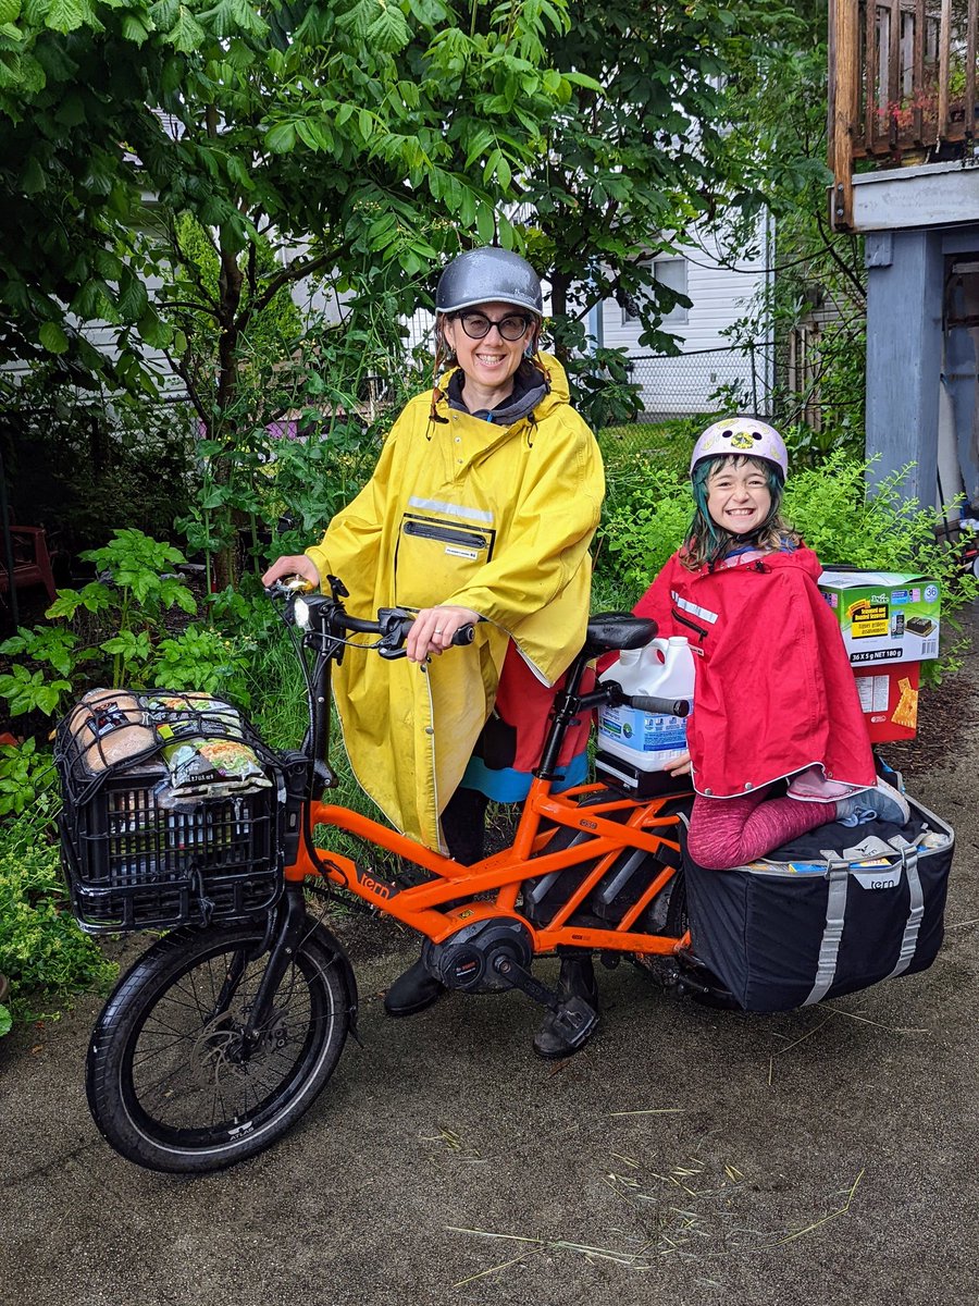
[[[687,252],[687,295],[692,300],[685,321],[667,319],[663,329],[676,337],[680,357],[662,358],[640,346],[638,321],[623,321],[623,310],[612,300],[600,307],[600,340],[608,349],[625,349],[634,360],[633,380],[642,387],[644,409],[650,414],[704,413],[715,406],[711,393],[739,384],[745,397],[764,406],[771,342],[754,343],[754,383],[751,357],[731,347],[724,336],[768,277],[766,225],[758,227],[757,249],[751,257],[718,255],[711,238],[697,239]],[[681,311],[683,312],[683,311]]]

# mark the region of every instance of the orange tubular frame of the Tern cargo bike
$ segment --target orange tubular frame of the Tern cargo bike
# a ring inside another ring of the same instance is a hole
[[[356,622],[347,628],[377,627]],[[677,939],[633,929],[646,908],[670,885],[680,866],[681,853],[676,837],[680,818],[666,810],[676,801],[677,794],[633,799],[616,795],[600,784],[577,785],[560,794],[553,793],[555,781],[561,778],[556,773],[556,759],[569,724],[578,713],[607,701],[607,695],[600,688],[591,693],[581,692],[587,661],[589,653],[583,650],[568,673],[564,691],[555,700],[542,761],[534,773],[530,794],[509,848],[471,866],[463,866],[360,812],[307,799],[302,814],[307,832],[317,825],[346,831],[368,845],[385,849],[422,867],[432,878],[423,884],[402,888],[330,849],[311,850],[312,840],[307,838],[305,842],[300,841],[296,861],[286,868],[287,885],[298,885],[307,876],[325,876],[436,944],[480,919],[510,917],[521,921],[530,931],[535,953],[553,952],[567,946],[615,953],[670,956],[688,946],[689,934]],[[324,658],[324,663],[319,677],[324,683],[317,683],[313,693],[320,720],[324,704],[329,709],[330,695],[329,658]],[[606,801],[589,802],[583,807],[580,804],[582,798],[587,801],[589,795],[603,793],[607,795]],[[611,819],[612,814],[620,814],[620,819]],[[547,845],[561,827],[581,831],[589,837],[548,853]],[[570,923],[595,885],[627,849],[637,849],[660,859],[659,874],[614,929]],[[594,865],[582,882],[544,926],[531,925],[517,910],[517,897],[525,882],[590,863]],[[492,897],[487,900],[486,895]],[[478,900],[459,902],[459,899]]]

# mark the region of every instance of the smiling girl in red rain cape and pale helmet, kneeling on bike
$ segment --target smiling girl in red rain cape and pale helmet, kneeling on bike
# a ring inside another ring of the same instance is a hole
[[[691,460],[691,529],[634,609],[696,654],[689,754],[671,769],[696,790],[689,854],[714,870],[826,821],[909,818],[876,777],[820,562],[779,515],[787,469],[768,423],[709,426]]]

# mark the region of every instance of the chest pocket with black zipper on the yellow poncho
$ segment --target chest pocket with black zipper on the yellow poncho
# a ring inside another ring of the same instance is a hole
[[[443,603],[493,556],[496,532],[406,512],[394,556],[394,602],[399,607]]]

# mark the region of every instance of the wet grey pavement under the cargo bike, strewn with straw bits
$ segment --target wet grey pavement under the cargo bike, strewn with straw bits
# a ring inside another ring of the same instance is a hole
[[[979,656],[963,675],[979,687]],[[363,998],[303,1123],[223,1174],[140,1170],[82,1075],[98,1003],[0,1043],[0,1302],[976,1306],[979,727],[911,791],[957,829],[931,970],[779,1016],[634,968],[557,1067],[517,994],[385,1017],[415,955],[347,931]],[[553,973],[551,964],[550,973]]]

